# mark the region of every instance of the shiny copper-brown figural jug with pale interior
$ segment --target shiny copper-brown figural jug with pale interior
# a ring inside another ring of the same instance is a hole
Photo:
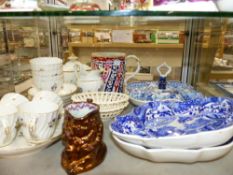
[[[99,165],[106,154],[103,123],[99,106],[89,102],[71,103],[66,107],[61,164],[67,174],[75,175]]]

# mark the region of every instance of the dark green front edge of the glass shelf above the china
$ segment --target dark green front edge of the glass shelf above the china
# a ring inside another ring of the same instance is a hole
[[[199,11],[0,11],[0,17],[44,16],[158,16],[158,17],[233,17],[233,12]]]

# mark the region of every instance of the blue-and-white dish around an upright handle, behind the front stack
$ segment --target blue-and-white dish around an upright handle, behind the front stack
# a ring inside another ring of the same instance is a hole
[[[192,86],[178,81],[168,81],[167,89],[158,89],[157,81],[132,82],[127,85],[127,93],[135,105],[151,101],[186,101],[203,97]]]

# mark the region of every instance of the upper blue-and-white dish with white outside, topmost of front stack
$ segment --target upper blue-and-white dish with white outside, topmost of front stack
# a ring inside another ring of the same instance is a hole
[[[206,97],[185,102],[150,102],[117,116],[116,137],[149,148],[200,148],[233,136],[233,100]]]

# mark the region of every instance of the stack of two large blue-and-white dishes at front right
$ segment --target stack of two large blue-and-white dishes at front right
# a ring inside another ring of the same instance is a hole
[[[233,147],[233,100],[150,102],[110,124],[125,151],[156,162],[210,161]],[[169,154],[163,154],[164,152]]]

